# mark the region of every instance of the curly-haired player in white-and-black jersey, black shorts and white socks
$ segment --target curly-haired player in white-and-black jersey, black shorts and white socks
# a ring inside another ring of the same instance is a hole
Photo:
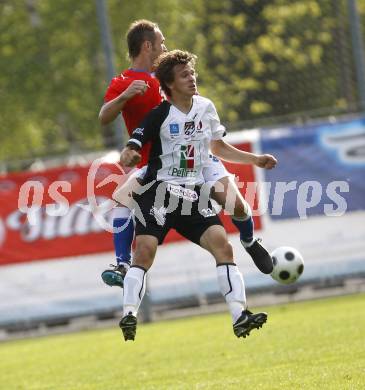
[[[244,282],[234,263],[232,247],[211,207],[209,193],[203,191],[203,167],[209,159],[209,148],[223,142],[225,128],[214,104],[196,95],[195,59],[180,50],[159,57],[156,77],[169,101],[146,116],[121,154],[122,165],[134,166],[143,145],[152,144],[141,183],[146,190],[135,196],[143,218],[136,218],[136,249],[124,279],[123,317],[119,325],[126,341],[135,338],[146,273],[153,264],[157,246],[171,228],[215,258],[218,284],[237,337],[248,336],[267,319],[266,313],[253,314],[247,309]],[[267,168],[276,164],[270,155],[239,151],[224,142],[220,147],[229,160],[237,163],[265,163]]]

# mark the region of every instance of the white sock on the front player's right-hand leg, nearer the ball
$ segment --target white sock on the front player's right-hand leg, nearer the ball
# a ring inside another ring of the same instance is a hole
[[[219,288],[228,304],[232,321],[235,323],[246,308],[245,284],[242,274],[236,264],[224,263],[217,265],[217,276]]]

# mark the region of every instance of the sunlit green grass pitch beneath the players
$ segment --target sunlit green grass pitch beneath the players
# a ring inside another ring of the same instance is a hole
[[[0,344],[0,389],[365,389],[365,295],[269,307],[237,339],[230,316]]]

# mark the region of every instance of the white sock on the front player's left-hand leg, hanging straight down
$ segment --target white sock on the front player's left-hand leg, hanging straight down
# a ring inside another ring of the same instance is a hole
[[[146,292],[146,270],[132,265],[125,275],[123,290],[123,316],[129,313],[137,316]]]

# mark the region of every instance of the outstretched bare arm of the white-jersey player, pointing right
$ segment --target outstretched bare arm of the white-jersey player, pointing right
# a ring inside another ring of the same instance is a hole
[[[277,160],[271,154],[254,154],[239,150],[223,140],[212,140],[210,142],[212,153],[224,161],[237,164],[252,164],[259,168],[272,169],[276,166]]]

